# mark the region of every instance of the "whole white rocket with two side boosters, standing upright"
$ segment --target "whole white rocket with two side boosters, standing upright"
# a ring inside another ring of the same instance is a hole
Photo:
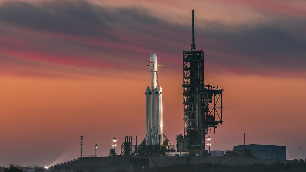
[[[162,133],[162,87],[158,84],[157,57],[150,57],[151,89],[146,89],[146,144],[163,145]]]

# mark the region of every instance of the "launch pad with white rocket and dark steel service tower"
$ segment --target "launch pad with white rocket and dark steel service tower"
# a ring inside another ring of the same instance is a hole
[[[222,124],[222,92],[218,86],[204,84],[204,52],[196,50],[194,10],[192,10],[191,50],[183,50],[184,135],[177,135],[176,150],[163,134],[162,88],[159,86],[157,56],[150,57],[151,88],[146,88],[146,137],[140,145],[127,139],[121,145],[121,155],[165,155],[185,152],[188,155],[208,155],[205,135]],[[166,140],[164,140],[164,138]]]

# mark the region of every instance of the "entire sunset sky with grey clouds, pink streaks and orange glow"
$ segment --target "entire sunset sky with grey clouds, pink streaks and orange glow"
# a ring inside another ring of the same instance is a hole
[[[306,2],[0,0],[0,165],[54,165],[117,154],[145,137],[149,57],[158,57],[163,131],[183,133],[182,50],[204,51],[223,93],[211,150],[287,146],[306,158]]]

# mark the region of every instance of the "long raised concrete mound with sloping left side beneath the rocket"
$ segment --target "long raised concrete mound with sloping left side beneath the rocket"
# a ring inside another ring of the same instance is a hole
[[[244,165],[254,163],[273,164],[275,160],[239,156],[115,156],[83,157],[69,162],[50,166],[47,172],[115,172],[147,171],[150,167],[164,167],[178,164],[221,163]]]

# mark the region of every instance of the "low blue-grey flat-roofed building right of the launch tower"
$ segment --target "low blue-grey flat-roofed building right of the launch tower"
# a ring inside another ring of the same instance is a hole
[[[244,149],[250,149],[252,156],[262,159],[286,160],[286,146],[246,144],[234,146],[233,151],[241,155]]]

